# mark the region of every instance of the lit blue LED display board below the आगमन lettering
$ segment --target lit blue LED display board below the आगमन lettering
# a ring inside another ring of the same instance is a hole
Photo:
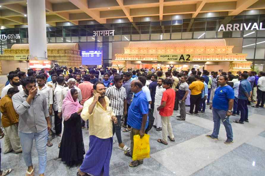
[[[102,65],[101,51],[82,51],[82,65]]]

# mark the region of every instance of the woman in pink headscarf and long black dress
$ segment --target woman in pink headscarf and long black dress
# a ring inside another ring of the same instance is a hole
[[[80,116],[82,110],[83,106],[78,102],[77,90],[68,90],[62,105],[64,132],[58,158],[61,158],[61,161],[64,161],[70,167],[82,164],[84,159],[85,148]]]

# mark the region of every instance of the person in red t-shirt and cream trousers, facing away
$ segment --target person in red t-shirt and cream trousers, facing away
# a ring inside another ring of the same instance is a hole
[[[159,111],[159,114],[161,115],[162,121],[162,139],[158,139],[157,142],[164,145],[168,145],[167,138],[169,138],[172,142],[175,142],[170,123],[170,117],[173,114],[176,96],[175,91],[171,89],[172,84],[173,83],[171,79],[167,78],[163,81],[163,88],[166,90],[163,92],[161,105],[157,108],[157,111]]]

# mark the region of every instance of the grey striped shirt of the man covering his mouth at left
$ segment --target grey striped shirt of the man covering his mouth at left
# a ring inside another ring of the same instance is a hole
[[[37,92],[30,104],[26,101],[28,95],[25,92],[12,96],[15,111],[19,114],[18,131],[23,133],[38,133],[47,128],[46,117],[49,111],[45,95]]]

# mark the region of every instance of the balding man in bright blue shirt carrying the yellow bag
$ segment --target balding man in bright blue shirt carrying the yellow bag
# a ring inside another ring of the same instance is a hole
[[[140,135],[142,138],[144,136],[144,131],[148,126],[148,101],[145,93],[142,91],[142,83],[139,80],[133,80],[131,82],[131,91],[134,94],[133,101],[128,110],[127,124],[129,124],[131,129],[130,139],[131,139],[131,151],[124,152],[126,156],[133,156],[133,136]],[[129,163],[130,167],[136,167],[143,164],[143,159],[135,160]]]

